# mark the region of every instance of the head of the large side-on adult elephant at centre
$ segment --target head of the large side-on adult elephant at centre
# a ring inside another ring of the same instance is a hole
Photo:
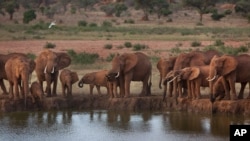
[[[134,53],[117,55],[112,60],[112,69],[108,71],[107,77],[110,77],[110,79],[118,78],[119,75],[131,71],[137,63],[138,58]]]

